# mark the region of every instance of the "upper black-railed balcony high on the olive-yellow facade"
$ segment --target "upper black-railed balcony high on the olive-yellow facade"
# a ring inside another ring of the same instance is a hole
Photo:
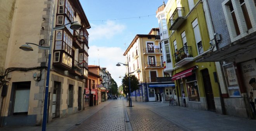
[[[177,30],[186,19],[184,7],[177,7],[169,19],[170,30]]]

